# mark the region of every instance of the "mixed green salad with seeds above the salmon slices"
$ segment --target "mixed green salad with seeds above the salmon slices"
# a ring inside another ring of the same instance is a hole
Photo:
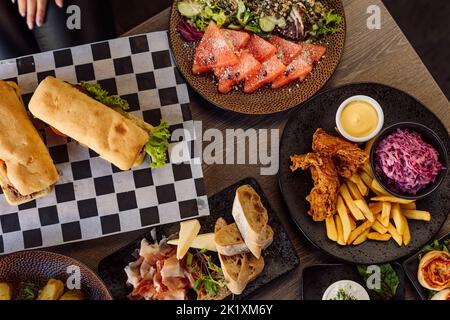
[[[180,0],[177,5],[180,14],[199,31],[214,21],[219,27],[264,38],[274,33],[315,42],[338,32],[343,21],[318,0]]]

